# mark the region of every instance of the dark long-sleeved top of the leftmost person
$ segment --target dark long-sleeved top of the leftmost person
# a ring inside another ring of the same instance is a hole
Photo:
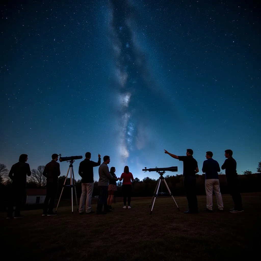
[[[11,167],[8,176],[14,185],[26,186],[26,175],[31,176],[30,166],[26,162],[19,161]]]

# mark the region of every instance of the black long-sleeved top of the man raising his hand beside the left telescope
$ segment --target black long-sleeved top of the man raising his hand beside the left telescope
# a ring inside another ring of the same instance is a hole
[[[100,158],[98,162],[90,161],[90,159],[84,159],[79,165],[79,175],[82,178],[82,183],[93,183],[93,167],[100,165]]]

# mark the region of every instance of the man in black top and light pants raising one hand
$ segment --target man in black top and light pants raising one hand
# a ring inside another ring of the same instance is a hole
[[[80,162],[79,175],[82,178],[82,194],[80,198],[80,215],[84,214],[84,201],[86,199],[86,213],[92,214],[94,211],[91,209],[92,191],[93,191],[93,167],[100,165],[100,154],[98,154],[98,162],[90,161],[91,153],[85,153],[85,159]]]

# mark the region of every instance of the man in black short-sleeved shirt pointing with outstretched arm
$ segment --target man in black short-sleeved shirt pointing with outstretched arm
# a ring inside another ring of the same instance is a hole
[[[164,150],[165,153],[169,154],[174,159],[183,161],[183,176],[184,176],[184,187],[186,191],[186,197],[188,200],[188,211],[184,213],[198,213],[198,200],[196,194],[196,173],[198,170],[198,162],[193,158],[193,150],[187,149],[187,156],[176,156]]]

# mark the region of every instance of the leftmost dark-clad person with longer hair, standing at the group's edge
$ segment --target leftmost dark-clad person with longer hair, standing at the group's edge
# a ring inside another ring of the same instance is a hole
[[[23,196],[26,189],[26,175],[31,176],[31,170],[28,163],[26,163],[28,155],[22,154],[19,157],[19,162],[15,163],[9,172],[9,178],[12,180],[12,188],[9,196],[7,218],[13,217],[13,205],[15,202],[15,216],[14,218],[21,218],[20,208]]]

